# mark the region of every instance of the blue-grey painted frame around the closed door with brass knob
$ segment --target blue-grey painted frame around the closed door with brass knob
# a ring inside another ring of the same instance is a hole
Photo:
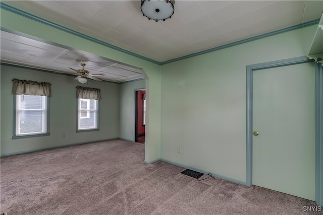
[[[254,70],[313,62],[306,56],[247,65],[246,185],[252,185],[252,73]],[[315,201],[323,206],[323,69],[315,65]]]

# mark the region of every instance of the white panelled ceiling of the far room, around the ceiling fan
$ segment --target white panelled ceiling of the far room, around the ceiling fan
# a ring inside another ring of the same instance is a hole
[[[81,62],[84,62],[84,69],[90,74],[103,74],[97,78],[104,81],[121,83],[144,78],[139,68],[5,31],[1,31],[1,61],[74,76],[78,74],[69,67],[81,69]]]

